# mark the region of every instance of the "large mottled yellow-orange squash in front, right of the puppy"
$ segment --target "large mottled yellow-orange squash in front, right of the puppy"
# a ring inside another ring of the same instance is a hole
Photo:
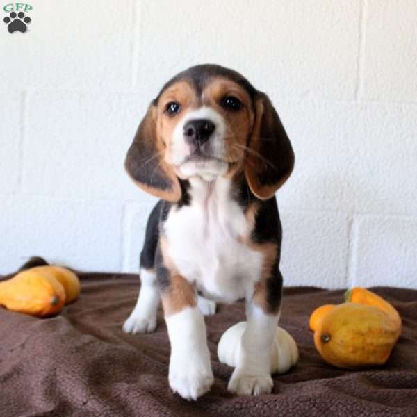
[[[319,320],[314,344],[328,363],[360,368],[385,363],[399,335],[398,322],[377,306],[345,302]]]

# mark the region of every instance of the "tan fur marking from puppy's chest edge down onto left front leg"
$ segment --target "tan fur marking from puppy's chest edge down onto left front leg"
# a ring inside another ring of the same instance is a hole
[[[170,272],[170,284],[162,292],[161,300],[163,311],[166,316],[178,313],[186,307],[193,307],[197,304],[195,288],[189,281],[182,277],[168,254],[167,238],[160,237],[161,252],[165,268]]]

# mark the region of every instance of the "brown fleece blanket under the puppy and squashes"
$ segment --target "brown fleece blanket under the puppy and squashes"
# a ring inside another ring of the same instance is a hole
[[[222,332],[245,320],[243,305],[206,318],[215,384],[197,402],[167,383],[170,345],[162,316],[154,334],[122,332],[138,293],[134,275],[84,274],[78,301],[55,318],[0,309],[0,416],[417,416],[417,291],[374,288],[398,308],[404,330],[382,368],[325,364],[307,329],[309,314],[343,291],[286,288],[281,326],[300,361],[274,377],[270,395],[227,392],[232,368],[219,363]]]

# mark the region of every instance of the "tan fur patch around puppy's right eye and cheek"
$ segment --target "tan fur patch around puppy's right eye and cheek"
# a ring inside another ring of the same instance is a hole
[[[230,111],[222,107],[220,101],[227,96],[239,99],[243,108],[239,111]],[[250,95],[245,88],[234,81],[214,77],[202,92],[202,103],[220,113],[226,123],[224,160],[234,163],[243,161],[247,140],[254,124],[254,111]]]

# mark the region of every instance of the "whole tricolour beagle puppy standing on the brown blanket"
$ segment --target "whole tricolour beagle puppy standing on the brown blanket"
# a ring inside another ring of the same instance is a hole
[[[153,332],[162,300],[172,390],[196,400],[213,384],[203,313],[246,300],[241,361],[228,390],[272,390],[279,319],[281,222],[275,192],[294,165],[270,99],[234,70],[190,67],[150,104],[126,156],[142,190],[160,200],[140,254],[138,302],[127,333]],[[204,298],[203,298],[204,297]]]

